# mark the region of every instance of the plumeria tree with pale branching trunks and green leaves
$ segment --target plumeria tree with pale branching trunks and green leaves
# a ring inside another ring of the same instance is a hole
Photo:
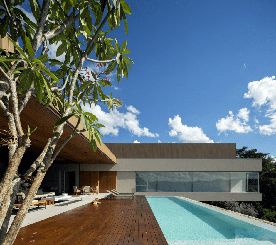
[[[0,34],[4,38],[9,31],[14,47],[14,52],[1,50],[0,57],[0,108],[9,125],[9,130],[0,131],[1,144],[9,149],[9,164],[0,183],[0,244],[13,243],[46,171],[72,137],[89,130],[90,145],[96,151],[96,141],[101,142],[97,128],[104,126],[97,123],[95,115],[84,112],[81,103],[107,103],[109,110],[121,106],[120,99],[105,95],[103,90],[111,85],[107,77],[110,72],[117,68],[119,82],[123,76],[127,79],[133,64],[125,56],[130,52],[127,41],[119,45],[108,37],[122,20],[128,32],[126,15],[131,10],[124,0],[31,0],[27,4],[35,22],[17,7],[24,1],[0,0]],[[48,59],[48,46],[57,44],[56,56],[65,54],[62,61]],[[85,62],[97,63],[97,70],[88,71]],[[45,108],[52,104],[61,118],[40,156],[25,173],[19,173],[23,154],[31,145],[29,136],[36,133],[34,129],[23,132],[20,120],[32,96]],[[73,133],[56,147],[72,116],[78,118]],[[78,131],[80,124],[83,130]],[[32,177],[35,170],[36,176]],[[32,180],[30,190],[8,230],[17,190],[27,179]]]

